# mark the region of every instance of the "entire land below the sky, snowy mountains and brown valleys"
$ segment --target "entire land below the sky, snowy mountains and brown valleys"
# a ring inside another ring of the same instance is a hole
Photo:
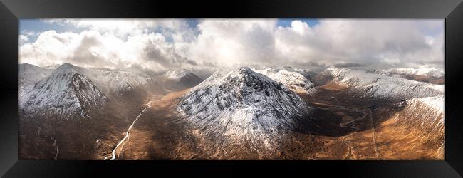
[[[21,159],[444,159],[434,68],[24,63],[18,81]]]

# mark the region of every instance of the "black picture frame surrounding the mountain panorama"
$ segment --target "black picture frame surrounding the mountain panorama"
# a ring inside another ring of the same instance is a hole
[[[461,177],[463,175],[462,0],[1,0],[0,175],[3,177],[105,177],[123,174],[345,175],[348,177]],[[26,18],[437,18],[445,19],[444,161],[31,161],[18,160],[17,60],[19,19]],[[123,171],[122,171],[123,170]]]

